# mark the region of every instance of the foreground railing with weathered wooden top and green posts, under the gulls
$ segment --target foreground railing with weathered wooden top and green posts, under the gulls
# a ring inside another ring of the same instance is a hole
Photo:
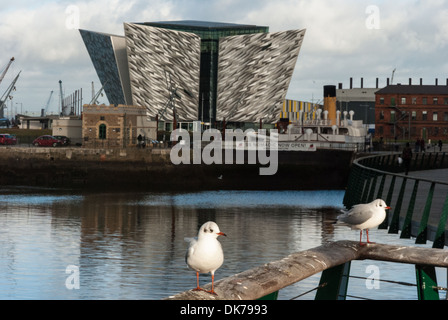
[[[415,265],[415,286],[420,300],[439,300],[435,268],[448,268],[448,252],[431,248],[404,247],[386,244],[360,246],[358,242],[337,241],[310,250],[296,252],[282,260],[244,271],[215,282],[217,295],[203,291],[185,291],[167,300],[268,300],[276,299],[278,291],[310,276],[322,273],[316,300],[345,300],[354,260],[376,260]],[[210,288],[210,284],[204,287]],[[302,295],[300,295],[302,296]],[[300,296],[294,297],[298,298]],[[358,298],[358,297],[356,297]]]

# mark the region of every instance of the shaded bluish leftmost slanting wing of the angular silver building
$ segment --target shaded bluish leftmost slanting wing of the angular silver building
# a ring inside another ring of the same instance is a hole
[[[79,30],[98,78],[110,104],[126,104],[118,70],[113,39],[123,38],[104,33]],[[119,41],[117,39],[117,41]]]

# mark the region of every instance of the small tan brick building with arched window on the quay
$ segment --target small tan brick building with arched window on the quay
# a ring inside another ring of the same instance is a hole
[[[144,107],[84,105],[83,109],[84,147],[125,148],[136,145],[139,135],[156,139],[156,122],[148,120]]]

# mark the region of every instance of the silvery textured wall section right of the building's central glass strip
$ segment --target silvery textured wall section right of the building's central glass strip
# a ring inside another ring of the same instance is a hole
[[[220,39],[217,120],[277,121],[305,31]]]

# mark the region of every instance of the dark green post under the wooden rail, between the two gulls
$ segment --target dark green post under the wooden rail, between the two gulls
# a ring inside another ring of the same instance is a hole
[[[315,300],[345,300],[351,262],[322,272]]]

